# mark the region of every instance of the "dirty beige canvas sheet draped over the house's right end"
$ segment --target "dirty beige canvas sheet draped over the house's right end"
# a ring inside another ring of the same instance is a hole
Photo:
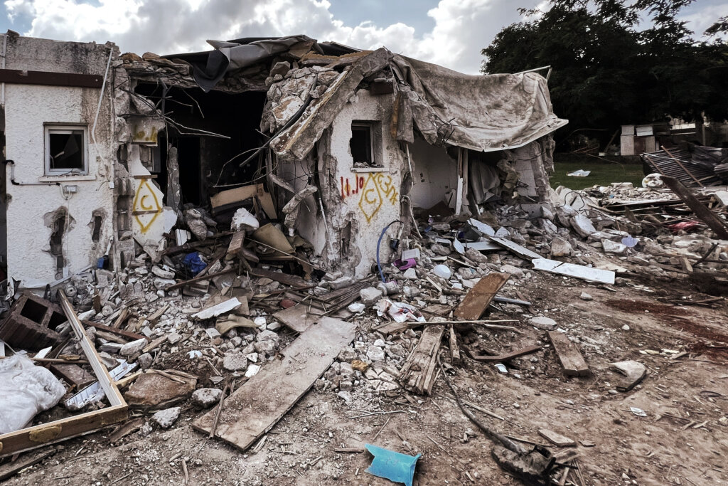
[[[539,74],[470,75],[393,55],[414,124],[428,143],[478,152],[515,149],[566,125]]]

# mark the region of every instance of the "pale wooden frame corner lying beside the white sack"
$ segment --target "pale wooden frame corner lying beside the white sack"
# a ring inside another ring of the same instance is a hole
[[[0,435],[0,457],[90,434],[100,428],[127,420],[129,416],[129,407],[124,401],[124,397],[119,392],[119,388],[114,385],[114,380],[111,379],[106,367],[101,364],[96,348],[86,336],[81,321],[79,321],[74,308],[71,306],[71,302],[68,302],[68,297],[62,290],[58,291],[58,297],[60,297],[63,312],[66,313],[66,317],[71,323],[71,329],[76,334],[76,338],[79,339],[81,348],[93,369],[96,379],[99,381],[104,393],[106,393],[106,398],[111,407]]]

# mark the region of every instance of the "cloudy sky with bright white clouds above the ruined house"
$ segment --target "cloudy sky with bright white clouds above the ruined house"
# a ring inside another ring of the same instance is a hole
[[[122,52],[207,50],[206,39],[306,34],[475,74],[480,49],[539,0],[5,0],[0,31],[113,41]],[[728,0],[697,0],[684,19],[702,32]],[[537,66],[534,66],[537,67]]]

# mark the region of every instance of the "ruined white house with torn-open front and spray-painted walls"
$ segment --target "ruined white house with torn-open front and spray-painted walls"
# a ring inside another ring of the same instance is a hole
[[[550,133],[566,121],[539,74],[470,76],[306,36],[211,44],[140,57],[3,36],[9,282],[158,261],[241,207],[269,259],[306,246],[315,267],[360,278],[414,213],[549,204]]]

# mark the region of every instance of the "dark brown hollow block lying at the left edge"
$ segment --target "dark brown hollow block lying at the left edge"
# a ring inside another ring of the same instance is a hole
[[[36,351],[63,341],[55,329],[68,321],[58,305],[25,292],[0,324],[0,340],[13,348]]]

